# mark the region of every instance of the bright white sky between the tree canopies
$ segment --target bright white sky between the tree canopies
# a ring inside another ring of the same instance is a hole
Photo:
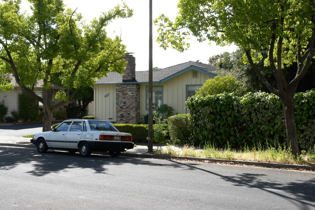
[[[121,36],[122,43],[126,45],[127,52],[132,52],[136,58],[136,71],[149,69],[149,0],[124,0],[127,6],[133,9],[133,16],[114,20],[107,28],[111,38]],[[81,13],[83,19],[90,22],[94,17],[98,18],[102,12],[109,11],[115,5],[121,4],[121,0],[63,0],[67,7]],[[152,0],[153,19],[159,15],[173,19],[177,14],[178,0]],[[27,0],[22,1],[21,8],[27,10]],[[156,43],[157,27],[153,25],[153,67],[166,68],[189,61],[208,64],[209,57],[236,50],[236,46],[209,45],[208,41],[199,43],[195,37],[189,40],[190,48],[184,52],[168,48],[164,50]]]

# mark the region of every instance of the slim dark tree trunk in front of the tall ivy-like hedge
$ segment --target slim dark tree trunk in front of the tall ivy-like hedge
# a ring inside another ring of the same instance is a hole
[[[299,155],[299,144],[297,127],[294,118],[293,98],[292,101],[284,102],[284,119],[288,148],[291,148],[293,155]]]

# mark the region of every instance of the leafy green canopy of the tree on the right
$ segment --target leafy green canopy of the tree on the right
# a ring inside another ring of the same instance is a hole
[[[302,53],[309,47],[314,30],[312,0],[179,0],[177,7],[173,22],[164,15],[155,20],[162,48],[171,43],[184,51],[189,48],[185,37],[192,34],[199,41],[215,41],[221,46],[234,43],[259,52],[270,45],[272,36],[281,36],[286,53],[279,59],[282,65],[291,65],[297,60],[298,47]],[[253,54],[253,59],[259,61],[261,56]]]

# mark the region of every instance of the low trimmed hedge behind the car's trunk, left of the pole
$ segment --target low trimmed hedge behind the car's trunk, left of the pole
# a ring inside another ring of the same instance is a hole
[[[113,124],[120,132],[131,133],[133,142],[147,143],[148,125]]]

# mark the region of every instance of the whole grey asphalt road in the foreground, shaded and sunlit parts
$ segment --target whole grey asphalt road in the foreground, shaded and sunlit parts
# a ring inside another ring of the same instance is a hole
[[[315,210],[315,173],[0,146],[0,210]]]

